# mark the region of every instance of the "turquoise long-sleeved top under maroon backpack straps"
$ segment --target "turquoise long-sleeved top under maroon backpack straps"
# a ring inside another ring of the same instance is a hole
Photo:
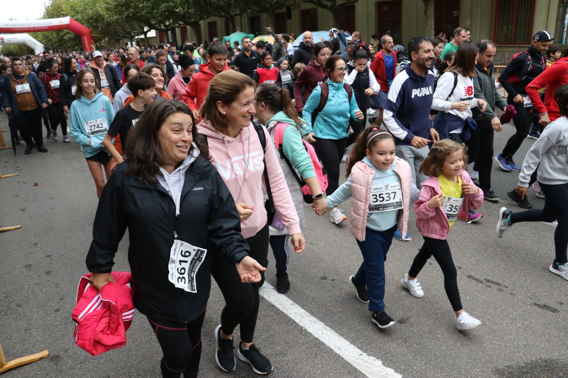
[[[355,118],[355,111],[359,110],[357,107],[357,101],[355,100],[355,94],[351,96],[351,101],[349,101],[349,95],[343,83],[335,83],[328,80],[329,96],[327,97],[327,103],[323,110],[318,113],[315,119],[315,125],[312,125],[312,113],[318,108],[321,88],[320,86],[315,87],[314,91],[308,97],[304,109],[302,111],[302,116],[307,122],[306,134],[314,133],[316,138],[322,139],[343,139],[349,135],[349,118]]]

